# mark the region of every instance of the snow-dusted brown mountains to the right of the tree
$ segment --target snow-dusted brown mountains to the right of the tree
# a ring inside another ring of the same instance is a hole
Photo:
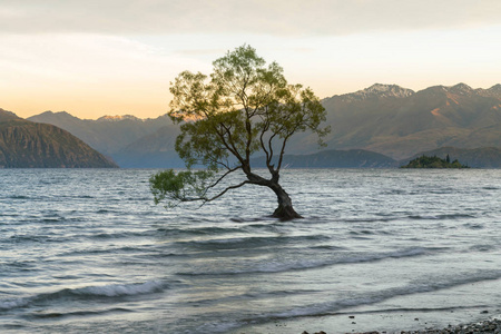
[[[331,148],[363,148],[402,159],[443,146],[501,147],[501,85],[434,86],[418,92],[374,85],[323,105],[332,126],[325,139]]]

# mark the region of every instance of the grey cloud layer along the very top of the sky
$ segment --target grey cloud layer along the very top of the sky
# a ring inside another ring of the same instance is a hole
[[[499,24],[499,0],[0,0],[0,32],[348,35]]]

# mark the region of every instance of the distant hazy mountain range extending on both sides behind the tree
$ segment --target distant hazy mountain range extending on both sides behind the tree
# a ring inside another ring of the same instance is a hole
[[[362,149],[401,160],[441,147],[501,148],[501,85],[473,89],[464,84],[414,91],[375,84],[366,89],[322,100],[332,127],[328,149]],[[46,111],[28,118],[58,126],[121,167],[181,167],[174,150],[178,126],[164,115],[79,119],[68,112]],[[297,134],[288,154],[318,151],[311,134]]]

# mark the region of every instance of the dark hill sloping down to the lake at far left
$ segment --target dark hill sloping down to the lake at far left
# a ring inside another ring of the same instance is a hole
[[[0,109],[0,168],[117,167],[70,132]]]

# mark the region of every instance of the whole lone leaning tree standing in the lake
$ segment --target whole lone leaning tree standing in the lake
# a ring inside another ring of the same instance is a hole
[[[155,203],[207,203],[230,189],[256,185],[276,194],[274,217],[301,218],[278,183],[285,147],[294,134],[307,130],[317,134],[322,145],[330,131],[320,128],[325,109],[310,88],[288,85],[282,67],[276,62],[266,66],[249,46],[228,51],[213,66],[210,77],[184,71],[170,84],[174,98],[168,115],[181,124],[176,151],[187,170],[154,175]],[[250,166],[250,157],[258,151],[265,156],[268,177]],[[191,169],[200,165],[206,168]],[[245,176],[242,183],[216,190],[236,171]]]

